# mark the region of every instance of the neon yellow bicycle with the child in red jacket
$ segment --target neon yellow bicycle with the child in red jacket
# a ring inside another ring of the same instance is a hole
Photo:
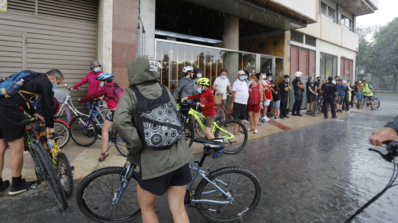
[[[205,133],[206,117],[196,111],[194,108],[196,108],[195,104],[189,104],[185,102],[179,103],[181,124],[183,125],[183,136],[185,137],[185,140],[187,140],[189,147],[191,147],[193,139],[195,139],[195,130],[193,128],[193,125],[189,122],[190,115],[195,117],[196,122],[201,127],[200,129],[196,128],[196,131],[201,131],[202,133],[197,135],[200,136]],[[243,149],[248,141],[248,132],[246,130],[246,127],[242,122],[235,119],[228,119],[220,124],[217,124],[216,119],[216,121],[213,122],[213,128],[211,129],[211,133],[216,138],[223,139],[225,145],[223,152],[227,154],[238,153]]]

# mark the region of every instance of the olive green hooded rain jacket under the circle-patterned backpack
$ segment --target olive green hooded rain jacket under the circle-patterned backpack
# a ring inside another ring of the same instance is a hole
[[[130,86],[135,85],[141,94],[148,99],[159,98],[162,94],[160,72],[154,57],[142,55],[129,63],[128,74]],[[174,106],[174,98],[168,91]],[[168,174],[184,166],[191,160],[192,153],[183,137],[170,149],[156,151],[142,145],[132,119],[137,113],[137,98],[131,88],[126,88],[120,97],[113,116],[114,126],[126,143],[130,155],[127,161],[140,166],[142,180]]]

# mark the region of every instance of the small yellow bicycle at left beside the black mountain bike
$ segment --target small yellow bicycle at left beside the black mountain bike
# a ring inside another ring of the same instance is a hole
[[[54,118],[57,119],[59,116],[55,116]],[[43,135],[40,137],[39,143],[41,143],[43,147],[46,145],[46,151],[53,163],[55,163],[60,185],[64,189],[65,195],[70,196],[73,192],[74,166],[70,166],[68,157],[66,157],[65,153],[62,153],[57,143],[57,140],[62,139],[64,135],[58,133],[50,134],[49,127],[46,126],[46,123],[41,123],[40,132]]]

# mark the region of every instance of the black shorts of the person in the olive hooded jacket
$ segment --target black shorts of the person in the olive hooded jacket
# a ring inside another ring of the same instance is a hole
[[[191,180],[192,174],[188,164],[168,174],[148,180],[142,180],[141,168],[138,174],[138,184],[140,187],[156,196],[164,195],[169,186],[183,186],[191,182]]]

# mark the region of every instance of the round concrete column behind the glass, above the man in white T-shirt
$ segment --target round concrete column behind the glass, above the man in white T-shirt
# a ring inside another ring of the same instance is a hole
[[[239,50],[239,18],[226,16],[224,20],[224,48]],[[224,69],[234,82],[238,75],[238,53],[228,52],[224,55]]]

